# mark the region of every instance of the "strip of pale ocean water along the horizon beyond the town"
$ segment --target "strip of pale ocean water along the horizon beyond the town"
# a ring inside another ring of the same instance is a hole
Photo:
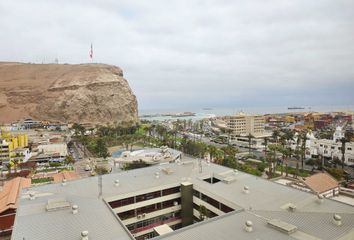
[[[162,114],[162,113],[182,113],[194,112],[193,117],[141,117],[141,119],[163,121],[167,119],[192,119],[199,120],[214,116],[227,116],[236,114],[237,112],[244,112],[248,114],[267,114],[267,113],[293,113],[293,112],[336,112],[336,111],[352,111],[354,112],[354,105],[336,105],[336,106],[299,106],[304,109],[288,109],[293,106],[273,106],[273,107],[221,107],[221,108],[170,108],[170,109],[139,109],[139,115],[145,114]]]

